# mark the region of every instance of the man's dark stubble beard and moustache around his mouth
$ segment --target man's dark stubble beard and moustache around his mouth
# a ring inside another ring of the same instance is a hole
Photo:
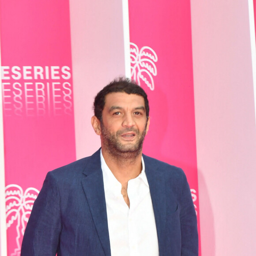
[[[101,131],[102,131],[102,143],[105,149],[111,154],[114,158],[121,158],[122,160],[132,160],[141,153],[143,141],[147,132],[147,123],[143,132],[135,128],[126,128],[115,133],[109,132],[101,122]],[[127,143],[122,144],[120,141],[120,136],[126,132],[135,132],[137,136],[137,141],[135,144]]]

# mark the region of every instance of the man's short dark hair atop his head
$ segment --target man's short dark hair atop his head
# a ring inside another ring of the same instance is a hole
[[[146,116],[147,118],[149,117],[149,105],[145,91],[135,81],[128,78],[119,77],[114,79],[100,92],[98,92],[94,99],[94,115],[98,118],[98,120],[102,121],[102,110],[105,106],[106,95],[113,92],[125,92],[127,94],[136,94],[142,96],[145,102]]]

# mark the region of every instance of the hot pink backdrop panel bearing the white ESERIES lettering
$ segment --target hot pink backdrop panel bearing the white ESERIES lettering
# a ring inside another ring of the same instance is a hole
[[[75,160],[68,0],[1,0],[8,255],[48,171]]]

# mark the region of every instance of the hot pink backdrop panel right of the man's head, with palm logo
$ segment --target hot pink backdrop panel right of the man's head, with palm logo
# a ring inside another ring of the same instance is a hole
[[[129,23],[132,78],[150,102],[143,152],[184,170],[200,234],[190,2],[130,0]]]

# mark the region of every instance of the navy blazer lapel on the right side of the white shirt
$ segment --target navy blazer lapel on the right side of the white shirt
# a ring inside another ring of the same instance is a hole
[[[166,184],[162,172],[157,172],[158,166],[152,165],[150,158],[143,155],[145,172],[150,188],[154,209],[154,218],[158,235],[159,255],[164,254],[165,226],[166,226]]]

